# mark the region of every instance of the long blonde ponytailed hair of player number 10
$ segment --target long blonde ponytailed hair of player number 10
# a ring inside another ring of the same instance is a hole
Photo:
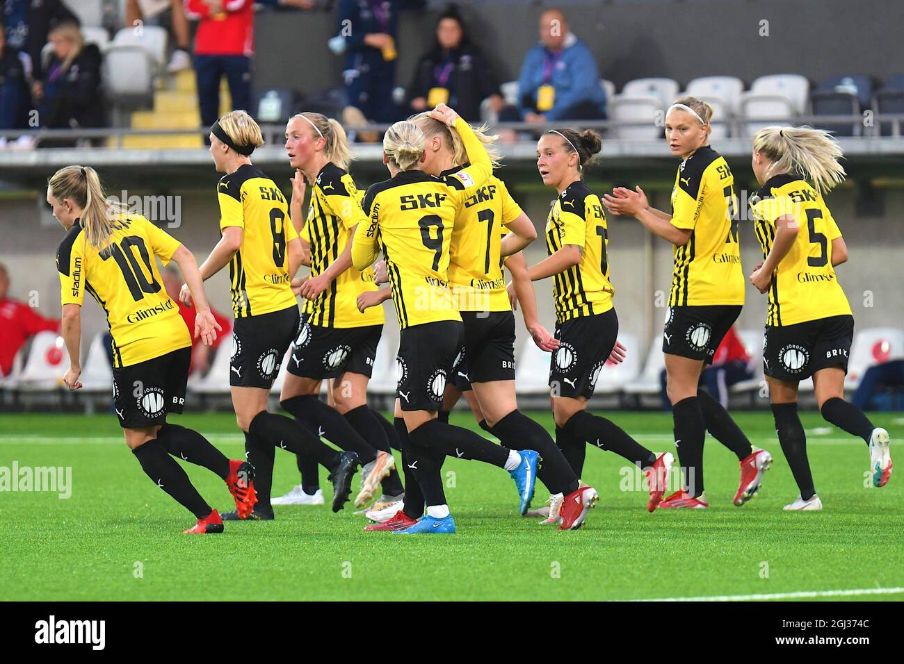
[[[107,200],[97,171],[90,166],[66,166],[53,173],[47,186],[53,198],[69,199],[80,207],[86,243],[97,249],[107,246],[114,218],[128,210],[121,203]]]

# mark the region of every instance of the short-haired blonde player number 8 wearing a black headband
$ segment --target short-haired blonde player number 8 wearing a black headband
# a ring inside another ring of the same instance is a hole
[[[270,487],[273,450],[305,453],[330,471],[333,510],[348,500],[358,457],[336,453],[296,421],[267,412],[269,390],[289,343],[298,331],[298,305],[291,281],[301,265],[302,248],[288,219],[286,199],[275,182],[251,164],[263,145],[260,127],[245,111],[232,111],[211,128],[211,155],[220,173],[217,183],[222,237],[201,266],[209,279],[230,267],[232,310],[232,407],[245,433],[248,458],[257,469],[258,504],[251,519],[273,519]],[[180,295],[186,304],[190,295]],[[227,520],[244,519],[228,512]]]

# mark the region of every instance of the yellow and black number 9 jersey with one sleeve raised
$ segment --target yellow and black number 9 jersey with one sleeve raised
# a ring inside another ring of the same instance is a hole
[[[485,184],[493,164],[471,127],[456,128],[471,159],[466,169],[439,178],[402,171],[364,194],[370,224],[354,234],[355,267],[372,264],[382,249],[399,327],[461,320],[448,283],[449,246],[459,208]]]

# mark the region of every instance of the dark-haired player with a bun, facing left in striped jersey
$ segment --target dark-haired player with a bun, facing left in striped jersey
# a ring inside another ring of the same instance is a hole
[[[599,371],[616,347],[618,318],[612,306],[615,289],[609,281],[608,229],[599,197],[581,179],[584,166],[600,150],[593,131],[552,129],[537,143],[537,169],[543,184],[559,192],[546,222],[549,257],[530,267],[532,281],[552,277],[559,348],[550,362],[552,415],[556,441],[580,476],[588,443],[625,457],[652,476],[650,504],[658,502],[672,465],[671,454],[656,455],[638,444],[605,417],[587,412]],[[582,487],[581,501],[592,507],[598,500],[591,487]],[[555,497],[553,497],[555,498]],[[560,509],[561,508],[561,509]],[[564,519],[570,509],[553,500],[550,519]]]

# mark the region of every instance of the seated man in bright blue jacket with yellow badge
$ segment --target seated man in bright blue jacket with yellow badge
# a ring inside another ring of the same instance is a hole
[[[540,14],[540,41],[524,58],[517,114],[509,107],[499,119],[538,124],[606,119],[606,91],[593,53],[569,31],[560,9]]]

